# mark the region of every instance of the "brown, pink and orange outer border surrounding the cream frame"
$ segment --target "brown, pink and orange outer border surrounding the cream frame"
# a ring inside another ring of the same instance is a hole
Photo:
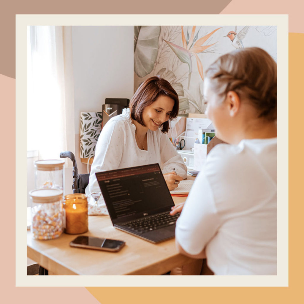
[[[120,0],[121,1],[121,0]],[[17,3],[19,2],[19,3]],[[226,1],[227,3],[229,1]],[[263,5],[257,5],[257,2],[253,2],[254,4],[250,4],[244,1],[233,0],[230,5],[226,7],[226,9],[222,10],[223,7],[220,7],[219,1],[207,2],[204,3],[202,1],[194,3],[194,1],[188,1],[187,5],[185,5],[184,1],[176,1],[174,7],[168,5],[162,1],[155,1],[151,7],[148,9],[143,9],[140,1],[133,1],[132,3],[121,1],[119,5],[117,5],[117,1],[110,4],[100,3],[94,6],[94,1],[86,1],[78,2],[78,1],[66,1],[63,3],[62,1],[53,1],[50,6],[45,6],[38,1],[11,1],[10,3],[6,3],[6,10],[2,10],[2,30],[5,29],[8,36],[10,36],[11,40],[2,40],[2,49],[0,62],[8,61],[8,54],[2,53],[5,46],[9,49],[10,53],[13,53],[14,57],[14,47],[12,48],[12,43],[15,43],[15,28],[12,26],[7,26],[7,23],[3,24],[3,20],[8,22],[8,19],[5,17],[9,17],[9,24],[15,24],[15,14],[18,13],[159,13],[159,7],[162,8],[162,13],[182,13],[182,14],[191,14],[191,13],[282,13],[282,14],[290,14],[289,16],[289,26],[290,30],[294,32],[304,32],[301,29],[301,26],[298,26],[300,22],[302,22],[297,11],[299,7],[292,8],[292,3],[295,3],[294,0],[289,2],[275,2],[271,1],[272,6],[268,7],[265,2]],[[77,4],[81,4],[77,6]],[[222,2],[223,3],[223,2]],[[298,2],[299,3],[299,2]],[[9,5],[9,7],[8,7]],[[212,5],[212,10],[209,10],[208,7]],[[214,7],[218,7],[219,11],[216,11]],[[251,6],[255,6],[252,8]],[[18,7],[18,11],[16,9]],[[264,9],[266,7],[266,10]],[[7,12],[10,12],[8,14]],[[13,22],[12,22],[13,20]],[[5,22],[6,22],[5,21]],[[1,37],[3,32],[0,33]],[[286,42],[287,43],[287,42]],[[303,34],[295,34],[290,33],[289,35],[289,99],[299,100],[299,96],[301,96],[300,89],[302,83],[300,83],[301,74],[299,71],[303,71],[303,57],[302,52],[304,47],[304,35]],[[14,74],[12,74],[15,70],[14,64],[9,65],[8,73],[1,69],[2,65],[0,65],[0,100],[2,101],[3,111],[5,115],[2,115],[1,119],[1,130],[2,131],[2,147],[14,147],[15,146],[15,80]],[[4,75],[8,75],[4,76]],[[301,102],[289,103],[289,121],[290,121],[290,130],[301,130],[302,126],[299,125],[301,121],[301,113],[303,113],[303,103]],[[9,114],[7,114],[9,113]],[[18,125],[18,128],[22,126]],[[18,131],[18,130],[17,130]],[[302,269],[303,263],[301,264],[299,243],[297,241],[301,240],[301,236],[299,231],[301,231],[301,227],[299,223],[301,223],[300,216],[303,214],[303,205],[300,203],[302,201],[301,194],[299,189],[302,186],[300,184],[301,175],[297,172],[301,172],[303,169],[303,165],[298,163],[296,159],[301,159],[301,149],[299,149],[299,145],[302,147],[302,143],[296,143],[297,138],[296,134],[290,133],[289,137],[290,141],[290,152],[289,152],[289,170],[290,175],[292,176],[292,180],[290,181],[290,209],[289,209],[289,225],[290,225],[290,268],[289,268],[289,287],[288,288],[221,288],[220,290],[215,290],[215,288],[192,288],[187,287],[183,288],[152,288],[152,287],[112,287],[112,288],[87,288],[89,292],[94,295],[88,294],[85,288],[25,288],[25,287],[15,287],[15,261],[14,261],[14,252],[15,252],[15,154],[10,151],[5,151],[2,148],[1,159],[3,164],[3,173],[1,177],[2,185],[5,185],[5,191],[3,191],[3,199],[2,199],[2,222],[3,228],[5,231],[2,232],[2,248],[6,250],[2,250],[1,252],[1,261],[2,261],[2,289],[4,292],[2,293],[2,298],[5,302],[8,303],[36,303],[36,302],[44,302],[44,303],[53,303],[54,301],[58,303],[63,302],[83,302],[86,303],[119,303],[119,302],[132,302],[132,303],[153,303],[154,302],[176,302],[176,303],[184,303],[184,302],[194,302],[195,300],[212,300],[213,302],[218,301],[229,301],[231,299],[233,302],[238,302],[237,299],[241,300],[241,298],[246,299],[246,302],[286,302],[292,299],[301,299],[301,286],[300,282],[301,277],[297,275],[297,270]],[[297,145],[297,146],[295,146]],[[4,181],[9,181],[8,183],[4,183]],[[299,202],[294,206],[295,202]],[[68,277],[67,277],[68,279]],[[3,283],[4,282],[4,283]],[[219,289],[219,288],[216,288]],[[222,290],[225,289],[225,290]],[[237,298],[236,298],[237,292]],[[115,297],[113,297],[113,294]],[[135,296],[136,295],[136,296]],[[242,300],[244,301],[244,300]],[[196,302],[196,301],[195,301]],[[300,301],[299,301],[300,302]]]

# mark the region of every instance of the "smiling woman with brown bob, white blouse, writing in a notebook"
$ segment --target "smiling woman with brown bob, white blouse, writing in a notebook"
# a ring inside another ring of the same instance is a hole
[[[130,102],[130,112],[111,118],[98,138],[85,193],[100,192],[95,173],[159,163],[169,190],[187,177],[187,167],[168,135],[169,121],[178,115],[178,95],[170,83],[146,79]]]

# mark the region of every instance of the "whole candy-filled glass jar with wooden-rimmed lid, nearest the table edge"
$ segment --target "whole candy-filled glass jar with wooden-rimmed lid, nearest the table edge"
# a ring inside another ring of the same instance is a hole
[[[62,195],[60,189],[38,189],[31,197],[31,233],[34,239],[51,240],[63,232]]]

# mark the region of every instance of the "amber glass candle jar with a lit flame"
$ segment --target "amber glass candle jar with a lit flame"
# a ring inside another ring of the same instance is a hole
[[[65,233],[80,234],[88,231],[88,199],[85,194],[74,193],[64,197]]]

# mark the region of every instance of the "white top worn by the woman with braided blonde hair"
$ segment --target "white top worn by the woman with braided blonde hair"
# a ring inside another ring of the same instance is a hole
[[[214,147],[177,220],[175,237],[189,254],[206,247],[216,275],[276,275],[277,139]]]

